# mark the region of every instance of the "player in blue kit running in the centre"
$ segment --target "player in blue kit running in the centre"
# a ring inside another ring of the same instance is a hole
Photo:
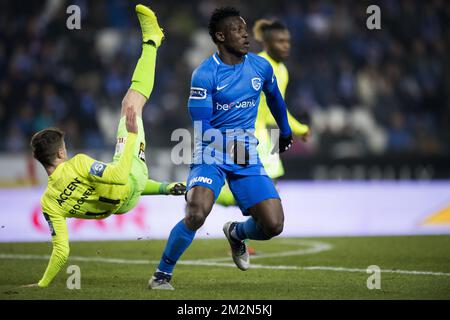
[[[245,239],[268,240],[283,230],[280,197],[252,143],[263,91],[280,128],[279,151],[292,145],[286,105],[272,67],[266,59],[248,53],[247,25],[236,9],[216,9],[208,28],[218,52],[192,74],[188,108],[194,121],[196,149],[187,179],[186,216],[170,233],[149,282],[153,289],[173,290],[169,281],[175,264],[211,212],[225,179],[243,214],[251,216],[245,222],[228,222],[223,228],[239,269],[249,267]],[[226,134],[228,131],[233,134]],[[221,143],[211,152],[213,140]]]

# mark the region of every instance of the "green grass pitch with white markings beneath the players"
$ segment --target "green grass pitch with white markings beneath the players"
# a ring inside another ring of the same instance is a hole
[[[0,299],[450,299],[450,236],[279,238],[250,242],[242,272],[223,239],[196,239],[175,269],[175,291],[147,289],[166,241],[72,242],[65,268],[46,289],[50,243],[0,243]],[[81,289],[67,267],[78,265]],[[381,268],[381,289],[369,290]]]

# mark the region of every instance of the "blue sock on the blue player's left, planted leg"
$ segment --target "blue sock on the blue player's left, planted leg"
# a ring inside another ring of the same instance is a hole
[[[178,222],[170,232],[166,248],[158,265],[158,270],[166,274],[172,274],[173,268],[181,255],[191,244],[195,237],[195,231],[189,230],[184,224],[184,219]]]

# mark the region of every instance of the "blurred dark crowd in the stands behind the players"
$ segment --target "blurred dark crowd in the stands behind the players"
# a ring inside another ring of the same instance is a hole
[[[115,144],[141,51],[135,3],[0,2],[0,151],[28,151],[31,135],[48,126],[64,129],[73,150]],[[72,4],[81,8],[81,30],[66,27]],[[381,8],[381,30],[366,27],[371,4]],[[191,128],[191,73],[215,49],[207,24],[222,5],[237,7],[249,30],[259,18],[277,18],[291,31],[286,101],[313,130],[292,155],[449,155],[444,0],[152,1],[166,40],[144,110],[150,148],[170,147],[174,129]],[[251,49],[261,47],[252,39]]]

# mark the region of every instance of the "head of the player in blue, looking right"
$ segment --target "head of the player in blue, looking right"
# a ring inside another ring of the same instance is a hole
[[[222,7],[214,10],[209,20],[208,30],[219,49],[225,48],[237,56],[248,53],[250,42],[247,24],[235,8]]]

